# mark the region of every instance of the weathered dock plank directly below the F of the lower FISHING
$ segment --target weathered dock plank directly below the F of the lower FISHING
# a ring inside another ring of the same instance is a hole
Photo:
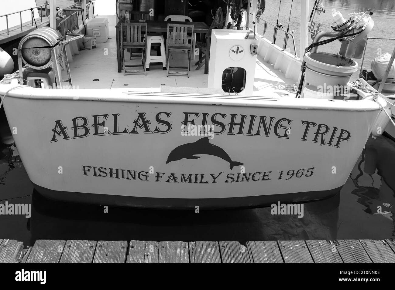
[[[60,263],[92,263],[96,243],[96,241],[67,241]]]

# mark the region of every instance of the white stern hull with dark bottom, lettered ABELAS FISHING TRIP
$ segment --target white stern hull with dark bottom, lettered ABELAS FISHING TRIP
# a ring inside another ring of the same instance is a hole
[[[4,106],[42,195],[174,209],[335,195],[380,109],[369,100],[33,88],[9,92]]]

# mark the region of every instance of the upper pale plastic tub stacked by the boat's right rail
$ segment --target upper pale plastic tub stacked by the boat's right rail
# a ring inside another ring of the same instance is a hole
[[[307,52],[303,60],[306,62],[306,82],[314,86],[345,86],[358,69],[351,58],[327,52]]]

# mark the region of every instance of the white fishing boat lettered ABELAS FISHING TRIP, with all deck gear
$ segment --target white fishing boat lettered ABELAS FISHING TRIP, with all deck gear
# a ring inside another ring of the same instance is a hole
[[[296,52],[289,24],[265,21],[264,1],[92,2],[92,18],[85,1],[74,8],[78,29],[51,11],[0,82],[21,160],[47,198],[195,210],[320,200],[339,192],[389,122],[381,95],[350,82],[370,11],[334,13],[321,32],[312,24],[322,4],[309,17],[302,1]],[[281,45],[264,37],[271,26]],[[338,54],[317,51],[337,39]]]

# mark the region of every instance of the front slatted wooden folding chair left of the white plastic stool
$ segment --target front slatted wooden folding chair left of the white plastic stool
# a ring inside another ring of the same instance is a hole
[[[145,32],[147,31],[147,23],[137,23],[137,22],[130,22],[130,23],[121,23],[121,56],[122,56],[122,67],[124,69],[124,75],[128,73],[145,73],[147,75],[147,70],[145,69],[145,39],[144,35],[141,34],[141,28],[145,27]],[[126,35],[125,35],[126,34]],[[142,65],[126,65],[125,64],[125,49],[141,49],[143,52],[141,55],[142,58]],[[134,69],[134,70],[126,70],[126,67],[141,67],[143,66],[144,69]]]

